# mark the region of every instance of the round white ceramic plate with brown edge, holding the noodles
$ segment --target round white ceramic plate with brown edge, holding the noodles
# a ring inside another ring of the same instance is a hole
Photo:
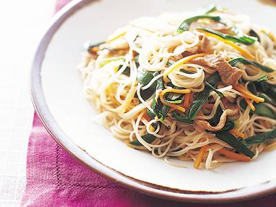
[[[34,107],[51,135],[74,157],[101,175],[140,192],[184,201],[236,201],[275,192],[276,151],[250,163],[214,170],[176,168],[128,148],[95,124],[97,112],[83,97],[77,64],[83,42],[101,41],[140,16],[195,10],[210,3],[248,14],[275,29],[275,8],[259,1],[102,0],[72,1],[57,14],[37,50],[31,87]],[[266,15],[264,15],[266,14]],[[86,152],[84,152],[83,150]]]

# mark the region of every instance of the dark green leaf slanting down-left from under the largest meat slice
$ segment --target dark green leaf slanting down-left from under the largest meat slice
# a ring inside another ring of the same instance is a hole
[[[211,86],[215,86],[215,84],[220,80],[221,78],[217,72],[213,73],[213,75],[210,75],[210,77],[206,79],[206,81],[210,83]],[[206,103],[211,90],[212,89],[210,87],[205,87],[204,90],[197,93],[188,113],[190,120],[195,119],[201,108],[204,106],[204,103]]]

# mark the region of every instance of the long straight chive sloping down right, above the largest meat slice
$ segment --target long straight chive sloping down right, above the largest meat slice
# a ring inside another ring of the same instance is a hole
[[[255,43],[255,39],[252,39],[250,37],[246,37],[245,35],[242,36],[242,37],[235,37],[235,36],[232,36],[232,35],[229,35],[229,34],[224,34],[224,33],[217,32],[215,30],[210,30],[210,29],[207,29],[207,28],[197,28],[197,29],[198,30],[204,30],[206,32],[215,34],[215,35],[217,35],[217,36],[219,36],[223,39],[226,39],[228,41],[233,41],[234,43],[242,43],[244,45],[252,45],[253,43]]]

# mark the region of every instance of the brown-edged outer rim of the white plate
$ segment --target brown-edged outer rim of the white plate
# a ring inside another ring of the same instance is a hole
[[[55,118],[52,116],[47,106],[41,85],[41,66],[48,45],[62,23],[74,12],[77,12],[77,10],[97,1],[99,0],[72,0],[65,7],[59,10],[59,12],[57,12],[57,14],[52,18],[50,26],[48,26],[46,32],[44,32],[41,37],[37,50],[34,53],[30,72],[30,95],[34,110],[51,137],[55,139],[55,141],[57,141],[57,143],[74,159],[79,161],[83,166],[86,166],[89,170],[93,170],[101,176],[139,193],[194,203],[226,203],[243,201],[275,193],[276,179],[257,184],[256,186],[247,186],[221,192],[178,190],[164,186],[157,186],[155,184],[147,183],[146,181],[140,181],[128,177],[115,169],[105,166],[97,161],[97,159],[88,155],[85,150],[79,148],[77,144],[74,144],[73,141],[70,140],[70,137],[61,130],[59,124],[55,121]]]

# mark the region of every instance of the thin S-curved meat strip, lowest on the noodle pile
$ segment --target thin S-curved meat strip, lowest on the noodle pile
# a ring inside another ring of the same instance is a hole
[[[194,124],[201,130],[218,131],[221,130],[221,128],[224,128],[227,116],[235,115],[235,113],[237,113],[237,110],[224,110],[219,119],[219,124],[217,124],[217,126],[211,126],[208,121],[201,119],[195,119]]]

